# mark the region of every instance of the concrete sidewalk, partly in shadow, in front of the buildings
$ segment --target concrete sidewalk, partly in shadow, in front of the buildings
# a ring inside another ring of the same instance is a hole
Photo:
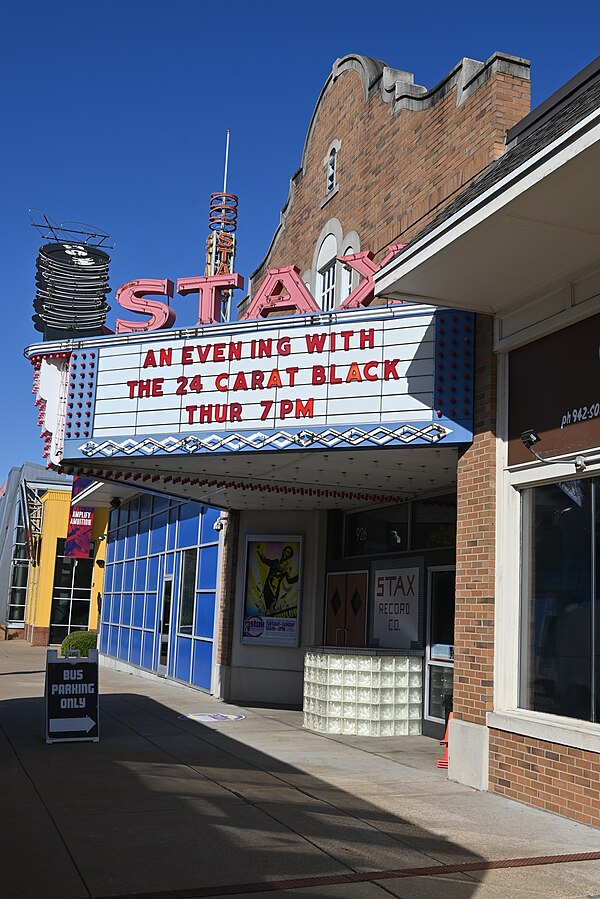
[[[599,830],[450,783],[424,737],[101,668],[100,742],[46,745],[45,657],[0,643],[2,899],[600,897]]]

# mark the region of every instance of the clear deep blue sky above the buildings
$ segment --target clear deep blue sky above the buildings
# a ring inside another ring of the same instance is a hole
[[[598,54],[600,4],[326,4],[271,0],[6,0],[0,13],[2,270],[0,482],[41,462],[23,347],[40,240],[30,207],[114,241],[109,295],[125,281],[201,274],[208,201],[240,198],[236,270],[263,258],[336,57],[362,53],[433,87],[463,56],[532,60],[537,105]],[[290,260],[292,264],[294,260]],[[176,298],[177,322],[195,321]]]

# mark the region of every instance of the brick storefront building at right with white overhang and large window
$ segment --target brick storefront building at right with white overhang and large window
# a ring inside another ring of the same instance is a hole
[[[450,777],[595,825],[599,123],[597,59],[375,276],[487,332],[458,475]]]

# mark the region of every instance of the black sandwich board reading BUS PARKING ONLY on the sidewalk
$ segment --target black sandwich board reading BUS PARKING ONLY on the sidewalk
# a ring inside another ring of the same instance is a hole
[[[88,657],[79,650],[59,656],[49,649],[46,656],[46,743],[91,740],[98,732],[98,650]]]

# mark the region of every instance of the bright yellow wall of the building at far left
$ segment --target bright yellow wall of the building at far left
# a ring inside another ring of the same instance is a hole
[[[52,606],[52,585],[56,563],[56,541],[65,539],[69,526],[71,508],[71,489],[47,490],[42,496],[42,537],[40,541],[39,562],[32,565],[27,590],[26,623],[34,628],[50,626],[50,610]],[[103,561],[106,556],[106,540],[99,541],[101,535],[106,536],[108,510],[94,509],[92,540],[95,541],[94,562]],[[90,630],[96,630],[98,624],[98,593],[102,594],[104,584],[104,567],[94,564],[92,582],[92,598],[90,605]]]

